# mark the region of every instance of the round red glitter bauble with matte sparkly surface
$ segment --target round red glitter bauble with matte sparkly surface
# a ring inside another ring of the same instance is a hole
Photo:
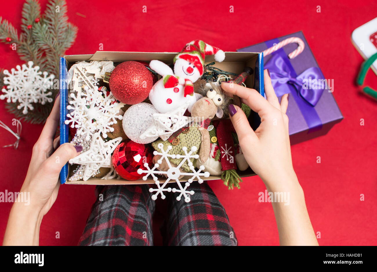
[[[115,67],[109,86],[117,100],[128,105],[143,102],[153,87],[153,75],[137,61],[125,61]]]

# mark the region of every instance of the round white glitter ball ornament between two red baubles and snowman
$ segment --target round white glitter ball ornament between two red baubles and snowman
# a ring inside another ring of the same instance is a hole
[[[158,113],[152,104],[138,103],[132,105],[123,115],[123,130],[131,141],[138,144],[149,144],[158,136],[140,139],[140,135],[153,124],[153,113]]]

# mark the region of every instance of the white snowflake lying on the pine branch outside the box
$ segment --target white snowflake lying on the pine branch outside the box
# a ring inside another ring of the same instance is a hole
[[[7,102],[18,102],[17,108],[23,108],[22,113],[27,114],[28,110],[34,110],[32,103],[52,102],[52,92],[47,92],[51,86],[54,75],[48,75],[48,72],[39,71],[39,66],[34,66],[32,61],[22,66],[17,65],[16,69],[12,68],[11,73],[4,70],[4,83],[8,85],[3,87],[0,99],[6,99]],[[43,76],[41,76],[43,75]]]

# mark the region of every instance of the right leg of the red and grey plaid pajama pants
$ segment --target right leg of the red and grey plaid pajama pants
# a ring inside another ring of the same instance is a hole
[[[186,203],[169,194],[167,219],[161,228],[164,245],[236,246],[237,239],[228,215],[207,183],[193,182],[195,193]]]

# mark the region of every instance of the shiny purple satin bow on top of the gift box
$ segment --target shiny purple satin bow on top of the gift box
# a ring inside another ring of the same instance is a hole
[[[264,65],[264,68],[270,70],[272,86],[277,96],[290,93],[291,88],[288,86],[288,84],[290,84],[294,86],[294,89],[297,90],[300,96],[313,107],[321,98],[324,89],[320,89],[322,87],[320,83],[324,81],[319,68],[308,68],[297,77],[294,77],[290,67],[288,67],[280,54],[273,54],[270,60]],[[305,79],[307,80],[307,84],[303,82]],[[313,82],[317,82],[317,84],[310,86],[312,85],[310,83]],[[305,86],[305,88],[303,88],[304,85],[307,85],[307,87]]]

